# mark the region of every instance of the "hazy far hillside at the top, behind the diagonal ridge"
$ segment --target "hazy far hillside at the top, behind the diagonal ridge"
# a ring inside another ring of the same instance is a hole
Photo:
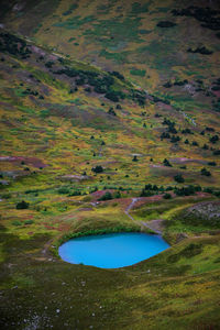
[[[6,1],[6,28],[74,59],[123,70],[128,78],[151,91],[167,92],[163,85],[169,79],[188,79],[191,84],[201,79],[210,87],[219,67],[218,1],[14,3],[9,6]],[[188,52],[201,47],[210,53]]]

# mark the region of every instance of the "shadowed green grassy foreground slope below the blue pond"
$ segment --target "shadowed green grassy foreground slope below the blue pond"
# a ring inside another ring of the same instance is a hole
[[[75,324],[77,319],[81,328],[92,324],[121,329],[122,324],[125,328],[132,324],[134,329],[146,326],[155,329],[160,324],[161,329],[185,329],[198,321],[210,324],[210,317],[211,323],[218,324],[218,308],[215,307],[219,289],[218,263],[215,263],[218,238],[185,241],[148,261],[118,271],[70,265],[56,258],[54,262],[36,262],[41,255],[37,246],[48,239],[46,235],[35,235],[29,240],[18,240],[15,235],[4,234],[4,253],[11,254],[9,246],[16,246],[15,253],[23,253],[11,270],[11,276],[4,273],[2,283],[6,295],[2,318],[9,324],[23,318],[31,323],[33,320],[26,311],[32,311],[33,316],[36,310],[38,315],[46,315],[46,319],[40,319],[41,327],[47,323],[59,327],[64,324],[64,316],[65,322]],[[196,246],[200,250],[195,250]],[[185,256],[189,249],[195,251],[190,258]],[[25,252],[29,252],[29,258]],[[209,260],[206,258],[207,253]],[[170,262],[173,255],[180,255],[178,262]],[[199,264],[196,262],[198,257]],[[19,306],[16,309],[9,304],[12,287],[18,287],[12,289],[13,301]],[[26,300],[26,290],[31,290],[34,297]],[[187,312],[189,308],[190,314]],[[147,314],[148,317],[140,317],[140,309],[142,315]]]

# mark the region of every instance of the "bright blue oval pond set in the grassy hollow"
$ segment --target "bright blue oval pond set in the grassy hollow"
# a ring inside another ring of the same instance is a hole
[[[72,239],[59,246],[58,253],[72,264],[119,268],[139,263],[168,248],[160,235],[132,232]]]

